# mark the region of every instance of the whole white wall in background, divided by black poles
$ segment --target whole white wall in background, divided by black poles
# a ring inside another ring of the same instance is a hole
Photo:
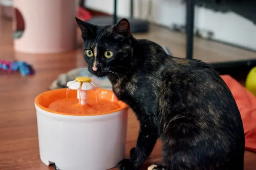
[[[151,15],[148,14],[152,2]],[[86,6],[113,14],[113,0],[86,0]],[[117,0],[119,17],[129,17],[130,0]],[[164,26],[185,25],[186,6],[181,0],[134,0],[134,17]],[[256,25],[236,13],[214,12],[195,8],[195,28],[212,31],[215,40],[230,42],[256,50]]]

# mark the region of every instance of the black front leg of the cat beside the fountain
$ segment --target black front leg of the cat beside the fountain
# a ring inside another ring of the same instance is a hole
[[[139,170],[151,154],[158,138],[158,128],[152,123],[141,123],[136,147],[130,151],[131,158],[119,162],[119,170]]]

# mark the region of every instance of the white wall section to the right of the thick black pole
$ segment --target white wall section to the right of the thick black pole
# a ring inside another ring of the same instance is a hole
[[[256,50],[256,25],[240,15],[199,9],[198,28],[214,32],[214,39]]]

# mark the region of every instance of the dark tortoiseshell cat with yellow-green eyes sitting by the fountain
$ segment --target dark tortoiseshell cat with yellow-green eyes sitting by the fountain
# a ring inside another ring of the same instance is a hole
[[[148,170],[243,170],[244,129],[236,102],[219,74],[198,60],[172,57],[137,40],[128,20],[96,26],[76,18],[88,70],[107,76],[119,100],[140,122],[131,158],[120,170],[139,170],[157,139],[163,163]]]

